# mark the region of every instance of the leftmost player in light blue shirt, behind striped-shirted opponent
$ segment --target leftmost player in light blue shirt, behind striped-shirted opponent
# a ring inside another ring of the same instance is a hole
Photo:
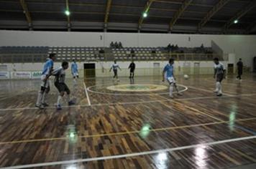
[[[47,94],[50,92],[50,82],[49,77],[52,73],[53,69],[53,62],[55,61],[56,54],[51,53],[49,54],[49,59],[44,64],[44,67],[42,69],[42,75],[41,75],[41,89],[38,92],[37,96],[37,103],[35,104],[36,107],[39,107],[40,109],[43,109],[47,106],[47,102],[45,102]]]

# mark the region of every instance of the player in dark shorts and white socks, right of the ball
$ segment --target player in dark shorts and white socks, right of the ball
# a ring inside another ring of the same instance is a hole
[[[219,59],[216,57],[214,58],[214,79],[216,79],[216,92],[217,96],[222,96],[222,87],[221,87],[221,81],[226,76],[226,69],[221,62],[219,62]]]

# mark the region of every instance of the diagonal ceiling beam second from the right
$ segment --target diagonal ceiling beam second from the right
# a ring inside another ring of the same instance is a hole
[[[198,24],[197,30],[200,31],[202,27],[211,19],[217,11],[219,11],[225,4],[227,4],[230,0],[220,0],[216,5],[214,5],[210,11],[207,12],[206,16],[200,21]]]

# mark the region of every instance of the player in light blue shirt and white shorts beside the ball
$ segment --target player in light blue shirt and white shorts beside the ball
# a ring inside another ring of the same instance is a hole
[[[178,95],[182,95],[177,88],[175,77],[174,77],[174,59],[169,59],[169,63],[165,66],[163,69],[163,82],[165,82],[165,79],[170,84],[169,87],[169,96],[171,99],[173,99],[173,87],[175,87],[175,90],[177,91]]]

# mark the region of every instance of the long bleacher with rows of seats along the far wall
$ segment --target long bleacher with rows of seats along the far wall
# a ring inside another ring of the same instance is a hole
[[[57,62],[72,61],[155,61],[173,57],[177,60],[212,60],[211,47],[204,48],[179,47],[171,52],[166,47],[0,47],[1,63],[45,62],[49,53],[57,54]]]

